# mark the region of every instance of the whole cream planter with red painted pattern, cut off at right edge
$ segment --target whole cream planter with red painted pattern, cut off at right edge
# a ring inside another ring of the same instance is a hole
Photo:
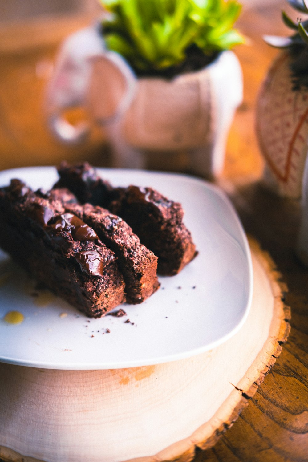
[[[282,52],[260,90],[257,136],[266,160],[266,185],[302,201],[297,252],[308,264],[308,90],[292,88],[290,56]]]

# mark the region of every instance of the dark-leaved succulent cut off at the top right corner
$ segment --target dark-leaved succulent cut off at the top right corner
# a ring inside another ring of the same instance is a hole
[[[308,14],[308,0],[286,0],[300,14]],[[302,87],[308,89],[308,20],[300,17],[294,22],[286,12],[282,11],[284,24],[294,31],[288,37],[264,36],[269,45],[287,49],[290,53],[290,70],[293,79],[293,90],[300,90]]]

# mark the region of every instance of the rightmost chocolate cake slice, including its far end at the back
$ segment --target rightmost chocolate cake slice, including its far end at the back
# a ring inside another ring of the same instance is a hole
[[[196,255],[190,231],[183,223],[183,209],[152,188],[113,188],[88,163],[58,168],[54,187],[70,189],[81,203],[90,202],[119,215],[140,242],[158,257],[157,272],[174,275]]]

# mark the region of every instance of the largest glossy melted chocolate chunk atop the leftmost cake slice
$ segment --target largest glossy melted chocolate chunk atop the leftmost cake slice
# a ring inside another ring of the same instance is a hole
[[[77,241],[94,241],[98,239],[97,233],[72,213],[62,213],[55,219],[55,223],[50,226],[58,231],[70,232],[73,239]]]

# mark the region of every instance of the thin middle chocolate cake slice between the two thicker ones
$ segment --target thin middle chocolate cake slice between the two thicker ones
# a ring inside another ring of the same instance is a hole
[[[51,190],[49,197],[59,199],[67,212],[84,220],[115,252],[128,303],[141,303],[157,290],[157,256],[140,243],[139,237],[124,220],[99,206],[88,203],[81,206],[66,189]]]

